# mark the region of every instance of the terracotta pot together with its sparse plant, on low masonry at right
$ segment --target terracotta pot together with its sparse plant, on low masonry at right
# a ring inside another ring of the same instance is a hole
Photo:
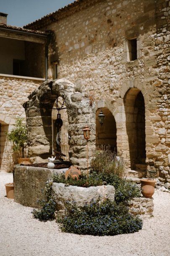
[[[152,195],[154,195],[154,186],[156,180],[154,177],[157,174],[157,171],[148,171],[149,175],[148,178],[141,179],[141,193],[146,198],[152,198]]]

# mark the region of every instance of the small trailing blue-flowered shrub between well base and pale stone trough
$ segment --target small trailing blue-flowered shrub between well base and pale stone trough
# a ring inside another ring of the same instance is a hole
[[[45,184],[45,188],[42,191],[45,199],[38,201],[41,205],[42,209],[33,210],[32,214],[35,219],[39,219],[40,221],[52,220],[55,217],[55,205],[56,203],[53,200],[52,196],[52,181],[49,180]]]

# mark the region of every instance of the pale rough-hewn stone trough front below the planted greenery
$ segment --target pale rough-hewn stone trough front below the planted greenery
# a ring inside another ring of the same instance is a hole
[[[113,186],[97,186],[97,187],[65,187],[63,183],[53,183],[52,191],[56,202],[56,209],[64,210],[66,202],[75,202],[77,207],[84,206],[92,200],[103,202],[106,199],[115,200],[115,188]]]

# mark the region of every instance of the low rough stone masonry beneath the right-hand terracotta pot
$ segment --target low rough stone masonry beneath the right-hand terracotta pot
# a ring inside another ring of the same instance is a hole
[[[128,203],[128,206],[133,215],[151,214],[154,211],[153,198],[135,197]]]

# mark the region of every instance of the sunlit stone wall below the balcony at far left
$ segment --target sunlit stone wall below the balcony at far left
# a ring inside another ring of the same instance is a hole
[[[11,143],[6,140],[6,132],[15,124],[16,117],[26,117],[22,106],[31,91],[35,90],[42,80],[33,78],[0,76],[0,170],[12,171],[13,154]]]

